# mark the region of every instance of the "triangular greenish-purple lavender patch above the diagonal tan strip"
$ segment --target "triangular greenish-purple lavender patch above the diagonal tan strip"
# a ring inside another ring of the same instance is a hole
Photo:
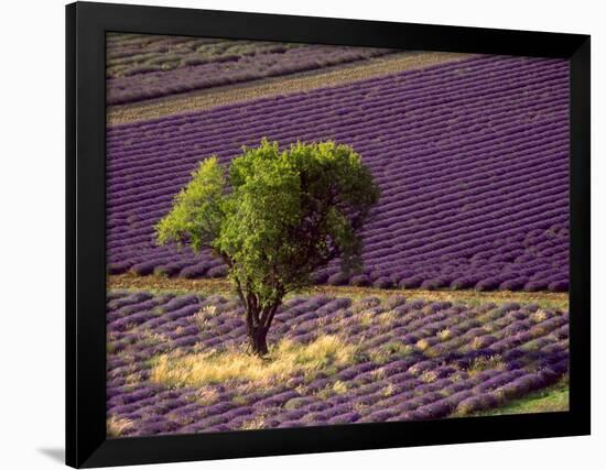
[[[162,35],[119,34],[108,39],[108,105],[313,70],[393,52]]]

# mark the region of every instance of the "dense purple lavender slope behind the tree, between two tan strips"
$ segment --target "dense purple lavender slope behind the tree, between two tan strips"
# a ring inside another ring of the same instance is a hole
[[[318,283],[566,291],[567,84],[565,61],[479,57],[111,128],[109,271],[224,275],[206,252],[153,241],[197,162],[227,163],[262,136],[332,139],[362,155],[381,198],[364,272],[333,263]]]

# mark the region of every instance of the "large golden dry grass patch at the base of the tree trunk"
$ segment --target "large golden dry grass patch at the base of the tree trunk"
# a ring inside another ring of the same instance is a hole
[[[151,380],[167,386],[203,386],[225,382],[257,385],[284,382],[299,373],[310,374],[351,362],[356,348],[336,336],[322,336],[309,345],[280,341],[267,358],[237,350],[154,358]]]

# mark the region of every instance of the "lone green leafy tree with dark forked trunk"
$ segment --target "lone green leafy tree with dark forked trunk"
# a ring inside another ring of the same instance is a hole
[[[160,244],[209,248],[223,259],[246,311],[250,349],[264,356],[286,293],[311,285],[331,260],[340,259],[345,273],[361,266],[359,231],[379,189],[348,145],[280,150],[263,139],[242,150],[229,165],[229,185],[215,156],[203,161],[155,229]]]

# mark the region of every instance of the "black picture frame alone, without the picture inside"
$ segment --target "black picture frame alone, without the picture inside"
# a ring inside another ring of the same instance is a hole
[[[105,34],[108,31],[570,61],[570,411],[106,438]],[[587,435],[588,35],[76,2],[66,7],[66,463],[100,467]]]

